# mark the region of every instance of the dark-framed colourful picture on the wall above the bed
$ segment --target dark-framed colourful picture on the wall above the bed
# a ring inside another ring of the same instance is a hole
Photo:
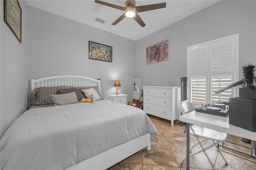
[[[89,41],[89,59],[112,62],[112,47]]]

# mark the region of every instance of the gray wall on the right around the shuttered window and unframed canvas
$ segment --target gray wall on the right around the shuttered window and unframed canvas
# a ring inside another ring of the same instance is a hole
[[[239,68],[256,63],[256,1],[221,1],[136,42],[136,77],[142,85],[180,86],[186,47],[239,33]],[[169,61],[145,64],[145,48],[169,40]],[[239,79],[242,79],[240,69]]]

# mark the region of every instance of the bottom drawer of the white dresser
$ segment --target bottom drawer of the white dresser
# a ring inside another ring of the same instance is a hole
[[[144,103],[143,111],[157,117],[171,120],[172,108]]]

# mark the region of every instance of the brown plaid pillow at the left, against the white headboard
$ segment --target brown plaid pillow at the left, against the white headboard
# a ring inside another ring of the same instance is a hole
[[[72,89],[72,86],[38,87],[34,97],[34,105],[54,104],[50,95],[57,95],[58,89]]]

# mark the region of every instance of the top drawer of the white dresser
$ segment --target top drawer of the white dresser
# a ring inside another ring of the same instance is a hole
[[[172,89],[148,89],[144,88],[144,96],[172,97]]]

